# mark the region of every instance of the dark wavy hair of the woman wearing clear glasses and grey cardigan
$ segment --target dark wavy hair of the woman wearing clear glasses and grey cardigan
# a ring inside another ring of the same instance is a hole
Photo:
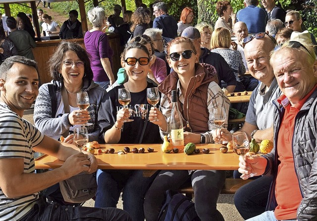
[[[86,78],[89,81],[91,81],[93,79],[93,71],[90,65],[90,55],[79,44],[70,41],[61,41],[55,53],[51,56],[50,60],[48,61],[52,79],[55,81],[60,80],[58,75],[60,72],[60,67],[63,64],[64,55],[67,51],[75,52],[79,59],[84,61],[86,76],[83,78]]]

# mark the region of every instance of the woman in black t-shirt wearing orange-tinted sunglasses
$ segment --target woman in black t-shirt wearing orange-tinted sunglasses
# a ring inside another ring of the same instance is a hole
[[[147,82],[147,74],[152,62],[148,49],[138,43],[129,44],[122,56],[121,65],[129,80],[106,94],[106,101],[99,111],[101,136],[106,143],[137,144],[146,123],[142,143],[160,143],[159,126],[147,120],[151,105],[147,102],[147,88],[155,87]],[[132,112],[123,108],[117,99],[118,88],[127,88],[131,94],[128,105]],[[123,122],[126,118],[132,122]],[[95,207],[116,207],[123,189],[123,209],[133,221],[144,221],[143,201],[145,193],[155,178],[143,177],[142,170],[98,170],[98,190]]]

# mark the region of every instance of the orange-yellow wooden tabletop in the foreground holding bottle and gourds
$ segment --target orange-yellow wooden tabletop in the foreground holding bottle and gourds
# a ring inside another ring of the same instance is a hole
[[[123,150],[128,146],[132,148],[145,149],[143,154],[127,153],[118,155],[118,150]],[[201,150],[199,154],[186,155],[184,153],[162,153],[160,144],[111,144],[103,145],[103,148],[113,148],[114,154],[95,154],[98,160],[98,168],[101,169],[221,169],[234,170],[238,169],[238,155],[232,150],[222,154],[219,151],[219,144],[197,144],[197,148]],[[154,148],[153,153],[148,153],[148,147]],[[209,148],[209,154],[203,154],[202,149]],[[63,164],[52,156],[43,157],[35,161],[37,169],[57,168]]]

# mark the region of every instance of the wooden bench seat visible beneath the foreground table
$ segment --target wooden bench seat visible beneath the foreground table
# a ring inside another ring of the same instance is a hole
[[[251,182],[252,179],[234,179],[234,178],[226,178],[224,185],[222,187],[222,194],[234,194],[241,186]],[[179,193],[184,193],[188,198],[192,199],[192,195],[194,194],[194,190],[192,184],[190,182],[184,183],[178,190]]]

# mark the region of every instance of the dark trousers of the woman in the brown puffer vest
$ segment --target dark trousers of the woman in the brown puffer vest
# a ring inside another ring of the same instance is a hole
[[[149,188],[144,201],[147,221],[157,221],[166,190],[177,190],[191,178],[195,194],[195,209],[202,221],[224,221],[216,209],[218,196],[225,181],[225,170],[162,170]]]

